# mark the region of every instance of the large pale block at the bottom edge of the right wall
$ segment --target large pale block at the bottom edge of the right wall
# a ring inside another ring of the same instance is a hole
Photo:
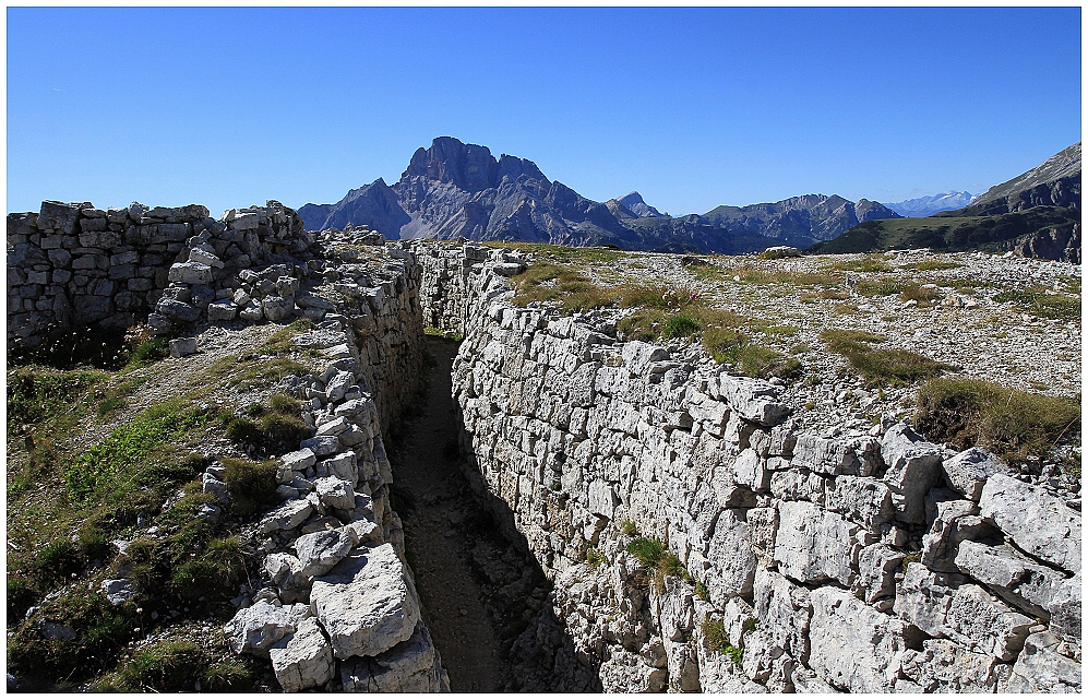
[[[888,692],[888,668],[906,649],[904,622],[841,589],[816,589],[811,600],[809,667],[836,688]]]

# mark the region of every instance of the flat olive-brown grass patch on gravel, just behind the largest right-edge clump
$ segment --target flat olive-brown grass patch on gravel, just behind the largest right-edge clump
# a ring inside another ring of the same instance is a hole
[[[849,329],[827,329],[820,334],[828,349],[847,358],[850,367],[870,385],[906,384],[950,369],[948,365],[906,349],[881,349],[873,343],[884,336]]]

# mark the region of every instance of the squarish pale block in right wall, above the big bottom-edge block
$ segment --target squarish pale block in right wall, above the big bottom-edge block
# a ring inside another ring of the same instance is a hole
[[[782,573],[806,583],[835,579],[853,584],[858,525],[808,502],[782,503],[779,519],[775,561]]]

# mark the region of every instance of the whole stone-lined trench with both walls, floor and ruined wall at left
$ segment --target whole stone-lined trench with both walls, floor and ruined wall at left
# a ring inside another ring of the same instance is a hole
[[[285,690],[1081,689],[1079,510],[982,450],[796,429],[778,387],[619,342],[615,312],[513,305],[510,250],[277,202],[8,221],[10,347],[148,309],[179,354],[203,323],[315,323],[295,343],[325,364],[279,387],[314,436],[225,627]]]

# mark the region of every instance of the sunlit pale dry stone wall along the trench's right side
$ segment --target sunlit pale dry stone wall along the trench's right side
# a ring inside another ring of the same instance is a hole
[[[465,335],[470,480],[606,690],[1080,689],[1061,499],[902,424],[794,430],[769,383],[514,307],[509,251],[414,249],[426,322]],[[682,569],[650,574],[634,531]]]

